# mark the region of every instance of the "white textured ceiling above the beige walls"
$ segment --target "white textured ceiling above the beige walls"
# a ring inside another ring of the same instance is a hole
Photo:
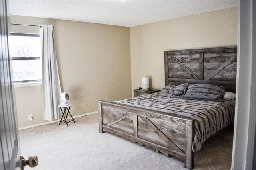
[[[10,14],[133,27],[237,6],[236,0],[10,0]]]

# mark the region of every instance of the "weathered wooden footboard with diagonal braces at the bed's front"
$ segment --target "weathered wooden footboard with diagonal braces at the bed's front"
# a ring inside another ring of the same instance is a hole
[[[194,168],[194,120],[98,100],[100,133],[108,131],[185,161]]]

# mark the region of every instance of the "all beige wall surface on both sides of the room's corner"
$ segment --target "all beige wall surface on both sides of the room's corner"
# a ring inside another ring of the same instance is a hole
[[[72,115],[97,111],[96,100],[129,98],[150,76],[150,88],[164,87],[166,50],[237,45],[237,8],[140,25],[95,23],[10,16],[10,23],[52,24],[63,92]],[[12,32],[38,33],[36,27],[11,26]],[[42,123],[40,86],[15,88],[19,127]]]

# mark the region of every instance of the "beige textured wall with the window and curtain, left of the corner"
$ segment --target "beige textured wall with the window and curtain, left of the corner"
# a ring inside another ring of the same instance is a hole
[[[68,92],[72,115],[97,111],[96,100],[131,97],[130,28],[26,16],[10,23],[52,24],[62,92]],[[11,32],[36,33],[38,27],[11,25]],[[40,86],[15,88],[18,125],[42,123]]]

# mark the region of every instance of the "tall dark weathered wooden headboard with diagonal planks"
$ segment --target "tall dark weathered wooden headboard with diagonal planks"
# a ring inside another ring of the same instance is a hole
[[[165,85],[203,83],[236,91],[237,47],[164,51]]]

